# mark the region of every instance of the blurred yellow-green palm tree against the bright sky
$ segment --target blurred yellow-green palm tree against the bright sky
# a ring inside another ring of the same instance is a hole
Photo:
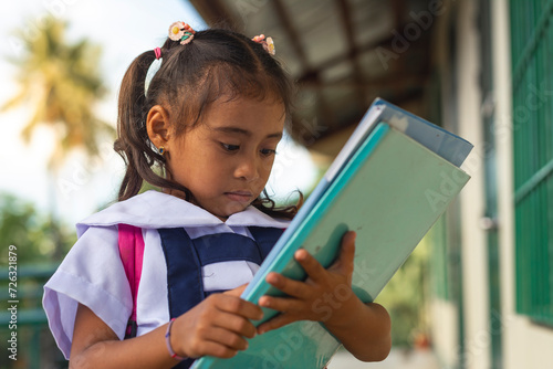
[[[23,52],[10,62],[18,66],[20,89],[1,110],[33,106],[22,130],[27,143],[39,125],[48,125],[54,131],[56,145],[48,169],[52,177],[49,180],[51,212],[56,218],[54,183],[65,159],[75,149],[84,149],[87,157],[93,158],[98,154],[98,139],[106,134],[113,136],[114,128],[94,110],[106,93],[98,72],[100,46],[88,40],[67,42],[64,21],[51,17],[41,24],[41,32],[17,31]]]

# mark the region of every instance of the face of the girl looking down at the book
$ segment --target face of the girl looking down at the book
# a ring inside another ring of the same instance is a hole
[[[168,143],[173,179],[221,220],[244,210],[265,187],[284,118],[278,102],[219,98],[201,123]]]

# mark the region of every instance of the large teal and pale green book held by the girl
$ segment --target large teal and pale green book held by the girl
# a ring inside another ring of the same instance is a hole
[[[470,177],[460,169],[465,139],[377,98],[242,294],[258,303],[282,293],[270,272],[304,280],[303,247],[325,267],[344,233],[357,233],[352,288],[373,302]],[[340,303],[336,292],[335,301]],[[324,306],[314,308],[324,308]],[[278,312],[263,308],[263,319]],[[295,321],[257,336],[230,359],[204,357],[194,369],[324,368],[340,342],[316,321]]]

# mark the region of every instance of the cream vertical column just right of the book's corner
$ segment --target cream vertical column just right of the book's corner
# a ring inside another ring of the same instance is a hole
[[[457,65],[459,73],[459,135],[474,145],[463,169],[472,176],[461,191],[461,242],[463,275],[465,352],[469,369],[490,368],[489,278],[487,234],[480,228],[484,214],[484,147],[480,114],[480,34],[478,2],[458,4]]]

